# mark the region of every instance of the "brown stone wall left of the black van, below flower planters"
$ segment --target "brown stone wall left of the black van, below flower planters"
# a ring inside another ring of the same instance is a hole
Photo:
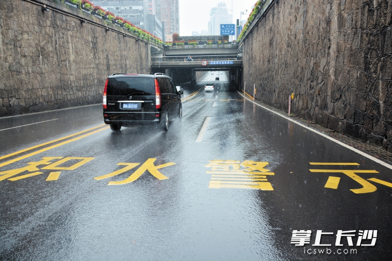
[[[106,77],[119,72],[150,73],[149,45],[28,1],[0,0],[0,117],[101,103]]]

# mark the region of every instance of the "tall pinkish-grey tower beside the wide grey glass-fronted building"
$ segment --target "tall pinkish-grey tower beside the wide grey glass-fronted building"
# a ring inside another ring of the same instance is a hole
[[[173,33],[180,34],[179,0],[155,0],[156,14],[165,22],[165,38],[172,38]]]

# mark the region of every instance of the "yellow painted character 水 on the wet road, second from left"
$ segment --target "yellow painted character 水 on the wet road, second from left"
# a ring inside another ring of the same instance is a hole
[[[156,178],[158,178],[160,180],[168,179],[168,177],[164,176],[161,172],[158,171],[158,169],[164,168],[164,167],[168,167],[168,166],[172,166],[172,165],[175,165],[176,163],[169,162],[169,163],[165,163],[165,164],[162,164],[162,165],[155,166],[154,165],[154,161],[155,160],[157,160],[157,159],[156,158],[149,158],[145,163],[143,163],[143,165],[141,165],[128,178],[126,178],[124,180],[121,180],[121,181],[110,181],[108,183],[108,185],[123,185],[123,184],[131,183],[131,182],[137,180],[146,170],[148,170],[154,177],[156,177]],[[121,162],[121,163],[118,163],[117,165],[127,165],[127,167],[124,167],[124,168],[122,168],[120,170],[117,170],[117,171],[112,172],[112,173],[107,174],[107,175],[95,177],[95,179],[100,180],[100,179],[116,176],[118,174],[121,174],[123,172],[126,172],[126,171],[136,167],[137,165],[140,165],[140,163],[123,163],[123,162]]]

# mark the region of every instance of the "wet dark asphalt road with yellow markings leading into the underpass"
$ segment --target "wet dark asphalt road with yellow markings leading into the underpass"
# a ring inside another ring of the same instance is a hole
[[[391,169],[214,77],[184,87],[168,132],[113,132],[102,105],[1,118],[0,260],[389,260]],[[305,249],[293,230],[312,231]],[[331,247],[312,246],[317,230]],[[338,230],[353,247],[335,246]],[[360,230],[378,231],[375,247],[356,246]]]

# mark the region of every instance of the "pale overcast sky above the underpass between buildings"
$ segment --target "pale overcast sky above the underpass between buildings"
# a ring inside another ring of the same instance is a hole
[[[227,9],[231,10],[231,0],[180,0],[180,35],[192,35],[192,31],[207,30],[209,10],[218,2],[225,2]],[[248,18],[251,7],[256,2],[257,0],[233,0],[233,23],[245,9],[248,12],[242,15],[242,19]]]

